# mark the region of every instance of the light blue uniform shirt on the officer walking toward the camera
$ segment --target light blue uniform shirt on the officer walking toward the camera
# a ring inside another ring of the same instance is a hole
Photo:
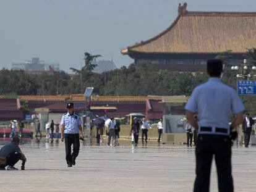
[[[79,133],[79,125],[82,124],[82,120],[77,113],[70,115],[68,112],[62,115],[61,125],[64,125],[64,133],[77,134]]]

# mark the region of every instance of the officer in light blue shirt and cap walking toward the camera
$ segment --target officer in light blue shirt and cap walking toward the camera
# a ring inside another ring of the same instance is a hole
[[[80,133],[80,137],[79,137]],[[77,113],[74,112],[74,104],[67,104],[67,113],[61,119],[61,141],[65,139],[67,167],[75,165],[75,158],[79,154],[79,138],[83,140],[82,121]],[[73,152],[71,154],[71,145]]]

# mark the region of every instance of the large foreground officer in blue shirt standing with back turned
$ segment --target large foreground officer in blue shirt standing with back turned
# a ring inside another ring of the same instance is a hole
[[[198,130],[196,157],[195,192],[209,191],[211,161],[215,156],[219,191],[233,191],[231,173],[231,130],[243,121],[244,106],[236,91],[221,80],[221,60],[207,61],[206,83],[197,86],[186,105],[187,120]],[[236,114],[229,127],[230,114]],[[198,114],[199,125],[193,118]]]

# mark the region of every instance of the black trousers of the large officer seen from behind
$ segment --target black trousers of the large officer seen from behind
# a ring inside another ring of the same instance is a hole
[[[220,192],[233,192],[231,174],[231,139],[223,135],[200,134],[195,149],[196,174],[194,192],[208,192],[210,188],[211,161],[215,156]]]

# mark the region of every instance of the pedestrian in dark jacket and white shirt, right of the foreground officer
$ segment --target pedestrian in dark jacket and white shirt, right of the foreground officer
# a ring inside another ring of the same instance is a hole
[[[254,120],[250,117],[249,113],[245,114],[244,121],[242,123],[242,132],[244,133],[244,146],[248,148],[250,143],[250,134],[252,133],[252,125],[254,125]]]

